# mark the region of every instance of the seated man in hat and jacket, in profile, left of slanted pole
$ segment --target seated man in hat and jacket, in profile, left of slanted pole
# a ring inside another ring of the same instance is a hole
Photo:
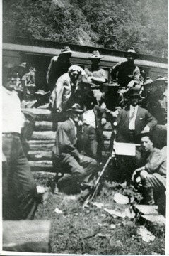
[[[83,110],[78,104],[74,104],[67,110],[66,121],[58,125],[56,144],[53,149],[54,169],[63,174],[57,181],[57,187],[59,191],[67,194],[79,193],[85,183],[92,181],[97,168],[97,162],[94,159],[81,155],[76,148],[81,114]]]

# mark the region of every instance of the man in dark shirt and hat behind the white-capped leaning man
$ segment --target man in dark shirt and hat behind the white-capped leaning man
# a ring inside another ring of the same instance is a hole
[[[47,71],[47,84],[51,92],[56,85],[57,79],[66,73],[68,68],[71,66],[70,58],[72,53],[73,52],[69,46],[64,46],[61,49],[59,56],[54,56],[50,60],[49,68]]]

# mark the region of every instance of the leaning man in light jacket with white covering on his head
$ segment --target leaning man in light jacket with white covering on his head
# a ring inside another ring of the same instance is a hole
[[[56,86],[50,97],[52,107],[53,130],[57,130],[57,123],[66,119],[66,110],[74,104],[74,94],[79,75],[85,75],[83,68],[71,65],[67,73],[64,73],[56,82]]]

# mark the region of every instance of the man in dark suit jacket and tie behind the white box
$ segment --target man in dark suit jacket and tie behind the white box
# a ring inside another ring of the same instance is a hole
[[[116,141],[136,144],[137,135],[143,130],[150,132],[156,126],[157,120],[148,110],[139,107],[139,88],[132,87],[128,96],[129,105],[120,111],[114,122],[117,129]],[[136,150],[135,156],[117,156],[117,162],[127,181],[130,180],[132,171],[136,169],[139,159],[139,150]]]

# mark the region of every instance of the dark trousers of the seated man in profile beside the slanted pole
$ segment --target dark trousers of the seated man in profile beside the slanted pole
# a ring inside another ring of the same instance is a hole
[[[88,156],[83,156],[81,161],[77,161],[70,154],[63,154],[58,160],[58,165],[64,176],[59,178],[57,186],[64,193],[78,193],[80,183],[91,181],[95,175],[97,163]]]

